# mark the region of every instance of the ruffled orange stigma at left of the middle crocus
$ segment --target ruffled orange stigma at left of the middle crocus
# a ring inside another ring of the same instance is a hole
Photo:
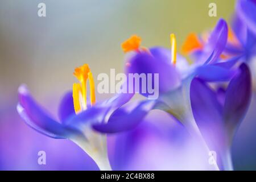
[[[141,46],[141,38],[137,35],[131,36],[125,42],[121,44],[123,52],[138,51]]]

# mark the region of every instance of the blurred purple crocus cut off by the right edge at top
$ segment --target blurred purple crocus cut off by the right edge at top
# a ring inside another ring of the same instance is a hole
[[[232,30],[226,45],[227,56],[250,62],[256,56],[256,1],[237,1]]]

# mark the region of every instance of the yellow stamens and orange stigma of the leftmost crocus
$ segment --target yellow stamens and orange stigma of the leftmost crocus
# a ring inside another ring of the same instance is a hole
[[[87,98],[86,98],[86,83],[89,80],[90,85],[90,105],[94,105],[95,99],[95,88],[92,72],[88,64],[84,64],[79,68],[75,69],[73,75],[80,81],[80,83],[73,84],[73,103],[75,112],[79,113],[82,110],[87,109]]]

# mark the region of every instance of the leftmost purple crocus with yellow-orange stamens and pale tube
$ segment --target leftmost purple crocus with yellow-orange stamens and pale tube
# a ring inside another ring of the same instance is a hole
[[[141,102],[135,105],[126,115],[115,114],[123,113],[118,109],[133,96],[133,94],[118,94],[105,102],[96,103],[94,94],[94,82],[92,72],[87,64],[76,68],[74,75],[80,83],[73,84],[73,93],[65,94],[59,106],[59,119],[57,122],[47,113],[35,100],[25,85],[18,89],[19,104],[17,110],[20,117],[39,133],[51,138],[70,139],[82,148],[102,170],[110,170],[108,159],[106,134],[98,133],[95,129],[105,129],[112,132],[118,130],[112,126],[116,121],[137,122],[151,109],[152,102]],[[90,105],[86,103],[86,81],[90,84]],[[138,118],[137,118],[138,115]],[[109,125],[106,125],[110,121]],[[121,124],[119,124],[121,125]],[[127,125],[125,125],[127,126]],[[129,125],[127,127],[131,127]]]

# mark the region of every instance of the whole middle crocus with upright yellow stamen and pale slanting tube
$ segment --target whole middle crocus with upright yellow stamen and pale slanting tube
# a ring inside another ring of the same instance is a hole
[[[123,50],[133,51],[126,62],[126,73],[159,73],[159,98],[166,105],[161,109],[174,115],[209,151],[193,118],[190,101],[190,84],[194,77],[205,81],[227,81],[236,71],[230,69],[233,63],[218,63],[225,48],[228,26],[220,19],[209,37],[200,59],[192,65],[176,54],[176,39],[171,34],[171,51],[162,47],[140,48],[141,39],[131,37],[122,44]],[[143,94],[148,96],[148,94]],[[217,166],[213,168],[218,169]]]

